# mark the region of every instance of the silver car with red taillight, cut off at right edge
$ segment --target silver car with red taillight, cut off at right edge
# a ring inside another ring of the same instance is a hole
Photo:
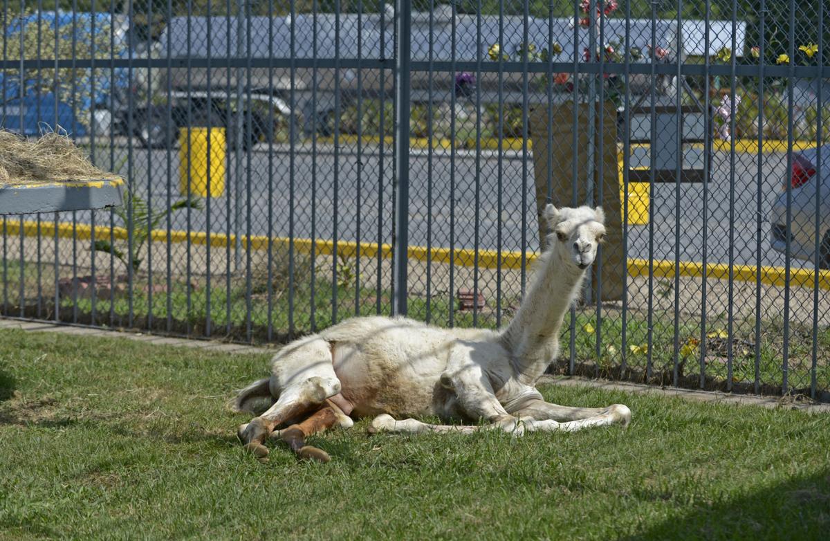
[[[798,259],[815,261],[818,238],[819,266],[830,269],[830,144],[792,154],[792,168],[770,212],[772,246],[787,251],[787,185],[791,189],[789,253]],[[819,192],[820,190],[820,192]],[[816,230],[816,197],[818,231]]]

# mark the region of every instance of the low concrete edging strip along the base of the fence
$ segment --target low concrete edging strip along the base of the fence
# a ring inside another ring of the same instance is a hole
[[[207,351],[232,354],[271,354],[281,347],[281,344],[274,344],[273,347],[246,346],[242,344],[223,344],[221,342],[168,338],[155,334],[132,333],[120,330],[93,329],[90,327],[76,327],[68,325],[57,325],[22,319],[0,318],[0,329],[20,329],[37,333],[58,333],[75,334],[79,336],[91,336],[111,339],[129,339],[144,342],[146,344],[173,346],[178,348],[201,348]],[[608,391],[637,392],[641,394],[654,394],[662,397],[678,397],[684,400],[696,402],[713,402],[720,404],[734,404],[735,406],[758,406],[758,407],[783,407],[799,410],[808,413],[830,413],[830,404],[814,404],[806,402],[794,402],[789,397],[758,397],[754,395],[737,395],[727,392],[697,391],[676,387],[652,387],[641,383],[612,382],[608,380],[588,379],[579,377],[542,376],[540,384],[561,385],[564,387],[590,387]]]

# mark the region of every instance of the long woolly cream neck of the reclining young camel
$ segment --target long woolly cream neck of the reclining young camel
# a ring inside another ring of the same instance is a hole
[[[559,250],[545,254],[525,299],[501,340],[522,383],[533,385],[559,353],[559,329],[579,295],[584,270],[564,262]]]

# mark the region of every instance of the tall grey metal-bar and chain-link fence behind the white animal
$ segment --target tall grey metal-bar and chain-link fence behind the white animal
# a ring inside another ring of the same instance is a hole
[[[129,197],[3,217],[2,314],[497,327],[540,208],[588,203],[555,372],[830,399],[824,2],[413,3],[3,2],[4,126]]]

